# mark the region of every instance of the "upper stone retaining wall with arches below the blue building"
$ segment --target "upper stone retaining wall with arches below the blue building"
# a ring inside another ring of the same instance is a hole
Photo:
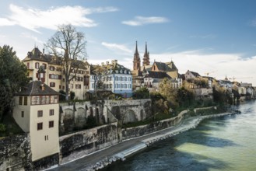
[[[87,117],[96,118],[97,124],[135,122],[152,117],[151,99],[98,100],[77,103],[60,103],[60,132],[81,130]]]

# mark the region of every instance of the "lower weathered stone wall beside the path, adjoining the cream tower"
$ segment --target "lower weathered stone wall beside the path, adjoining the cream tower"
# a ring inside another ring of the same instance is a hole
[[[117,122],[61,136],[60,163],[69,162],[117,142]]]

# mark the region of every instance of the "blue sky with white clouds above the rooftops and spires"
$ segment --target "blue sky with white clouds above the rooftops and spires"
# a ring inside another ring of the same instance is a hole
[[[142,61],[174,61],[216,79],[256,86],[254,0],[0,0],[0,46],[20,60],[40,51],[58,26],[72,24],[86,36],[90,64],[117,59],[132,69],[135,44]]]

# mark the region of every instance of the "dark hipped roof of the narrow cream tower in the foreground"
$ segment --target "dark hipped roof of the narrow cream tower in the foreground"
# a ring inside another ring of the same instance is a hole
[[[44,89],[42,87],[44,86]],[[43,82],[33,81],[30,82],[26,87],[22,89],[21,92],[17,93],[16,96],[40,96],[40,95],[59,95],[51,87],[47,86]]]

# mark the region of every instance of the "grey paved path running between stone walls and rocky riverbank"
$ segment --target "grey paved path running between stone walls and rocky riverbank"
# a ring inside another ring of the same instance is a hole
[[[113,145],[110,148],[105,148],[101,151],[94,152],[93,154],[86,155],[81,159],[76,159],[72,162],[68,162],[64,165],[58,166],[57,168],[51,169],[51,171],[86,170],[86,168],[89,168],[90,166],[95,165],[96,162],[99,162],[105,159],[106,157],[110,158],[114,155],[117,155],[117,153],[124,152],[124,150],[135,147],[136,145],[145,143],[143,141],[148,141],[156,137],[158,138],[165,137],[167,134],[178,134],[181,131],[186,131],[191,128],[191,123],[195,124],[195,120],[198,120],[198,118],[199,117],[190,117],[186,120],[183,120],[181,124],[178,124],[177,126],[168,127],[164,130],[157,131],[152,134],[147,134],[139,138],[133,138],[127,141],[121,141],[117,145]],[[190,125],[190,127],[188,127],[188,125]]]

